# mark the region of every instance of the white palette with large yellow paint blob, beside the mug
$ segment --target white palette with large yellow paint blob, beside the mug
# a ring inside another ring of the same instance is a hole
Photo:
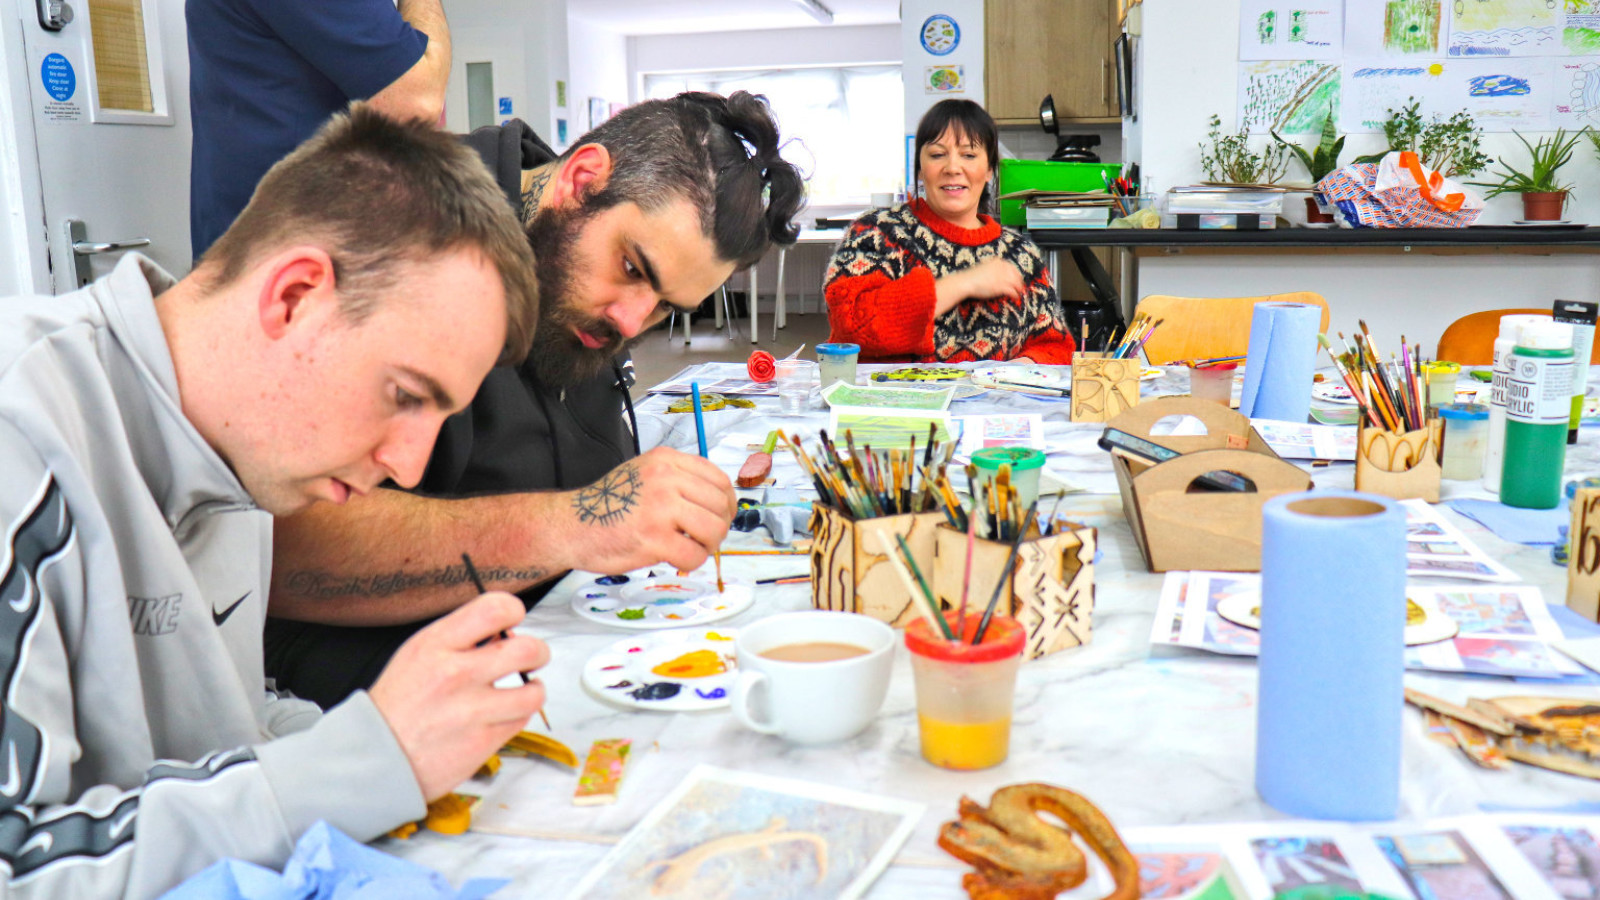
[[[718,709],[739,677],[736,634],[733,628],[683,628],[618,641],[584,663],[582,684],[634,709]]]

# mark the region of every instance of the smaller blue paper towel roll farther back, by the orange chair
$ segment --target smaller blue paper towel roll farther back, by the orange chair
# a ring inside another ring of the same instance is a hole
[[[1250,319],[1245,389],[1238,412],[1250,418],[1306,421],[1317,368],[1322,307],[1309,303],[1258,303]]]

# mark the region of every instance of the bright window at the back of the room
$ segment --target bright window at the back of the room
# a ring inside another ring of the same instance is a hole
[[[808,202],[864,205],[901,186],[906,119],[899,66],[672,72],[645,75],[645,98],[682,91],[763,94],[782,155],[806,179]]]

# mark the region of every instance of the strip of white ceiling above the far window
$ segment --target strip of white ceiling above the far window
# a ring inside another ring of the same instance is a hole
[[[899,0],[821,2],[835,26],[899,21]],[[797,0],[568,0],[566,14],[624,35],[821,27]]]

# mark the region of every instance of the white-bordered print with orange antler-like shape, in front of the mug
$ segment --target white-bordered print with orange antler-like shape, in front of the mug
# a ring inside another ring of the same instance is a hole
[[[573,898],[861,897],[920,804],[702,765],[595,866]]]

